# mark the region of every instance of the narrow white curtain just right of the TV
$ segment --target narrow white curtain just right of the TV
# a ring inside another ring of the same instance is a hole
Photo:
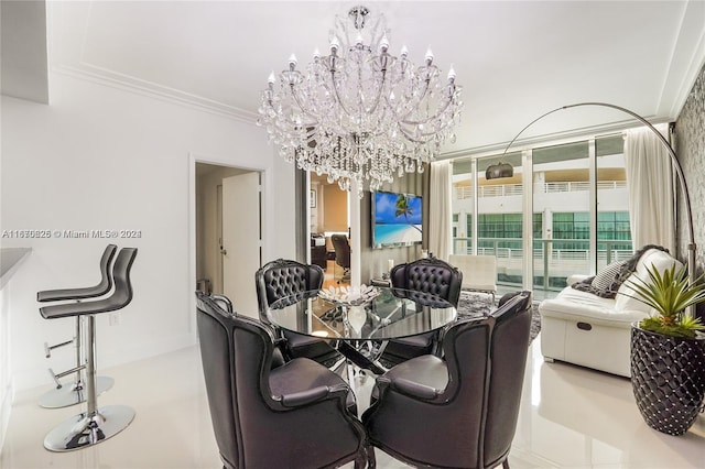
[[[429,199],[429,251],[447,261],[452,253],[451,231],[451,175],[448,161],[431,163],[431,187]]]

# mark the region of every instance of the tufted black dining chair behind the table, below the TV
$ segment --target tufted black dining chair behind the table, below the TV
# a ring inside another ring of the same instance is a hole
[[[395,265],[390,272],[390,281],[397,296],[425,306],[438,306],[440,298],[445,305],[457,307],[463,273],[447,262],[429,258]],[[387,343],[380,362],[391,368],[421,355],[435,353],[437,343],[438,331],[393,339]]]

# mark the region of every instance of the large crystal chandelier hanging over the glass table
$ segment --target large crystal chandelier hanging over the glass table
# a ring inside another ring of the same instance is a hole
[[[347,21],[336,17],[329,55],[316,50],[300,70],[292,54],[262,91],[258,124],[280,155],[344,190],[422,173],[446,139],[455,142],[463,101],[453,66],[443,79],[431,50],[419,67],[406,47],[391,55],[388,32],[383,15],[355,7]]]

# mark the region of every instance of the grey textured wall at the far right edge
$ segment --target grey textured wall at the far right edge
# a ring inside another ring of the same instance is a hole
[[[675,122],[675,151],[683,166],[691,206],[693,227],[697,246],[697,270],[705,268],[705,66],[695,80],[681,114]],[[683,210],[683,199],[679,194],[679,257],[686,259],[687,220]]]

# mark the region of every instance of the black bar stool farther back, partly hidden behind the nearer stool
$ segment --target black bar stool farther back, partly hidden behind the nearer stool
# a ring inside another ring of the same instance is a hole
[[[115,253],[118,247],[115,244],[108,244],[100,258],[100,282],[95,286],[88,286],[83,288],[63,288],[63,290],[45,290],[36,293],[36,301],[41,303],[47,302],[63,302],[74,301],[80,302],[82,299],[95,298],[106,295],[110,288],[112,288],[112,275],[110,273],[110,263],[115,258]],[[86,400],[86,393],[84,388],[83,371],[86,368],[84,363],[83,353],[83,317],[76,316],[76,329],[75,336],[72,340],[66,340],[54,346],[50,346],[44,342],[44,352],[46,358],[52,357],[52,350],[59,347],[64,347],[70,343],[76,346],[76,367],[61,373],[54,373],[54,370],[48,369],[52,379],[56,383],[56,388],[46,392],[40,397],[39,404],[46,408],[66,407],[69,405],[78,404]],[[59,379],[69,374],[76,374],[74,382],[70,385],[64,385]],[[108,377],[96,378],[96,393],[101,394],[112,388],[115,380]]]

